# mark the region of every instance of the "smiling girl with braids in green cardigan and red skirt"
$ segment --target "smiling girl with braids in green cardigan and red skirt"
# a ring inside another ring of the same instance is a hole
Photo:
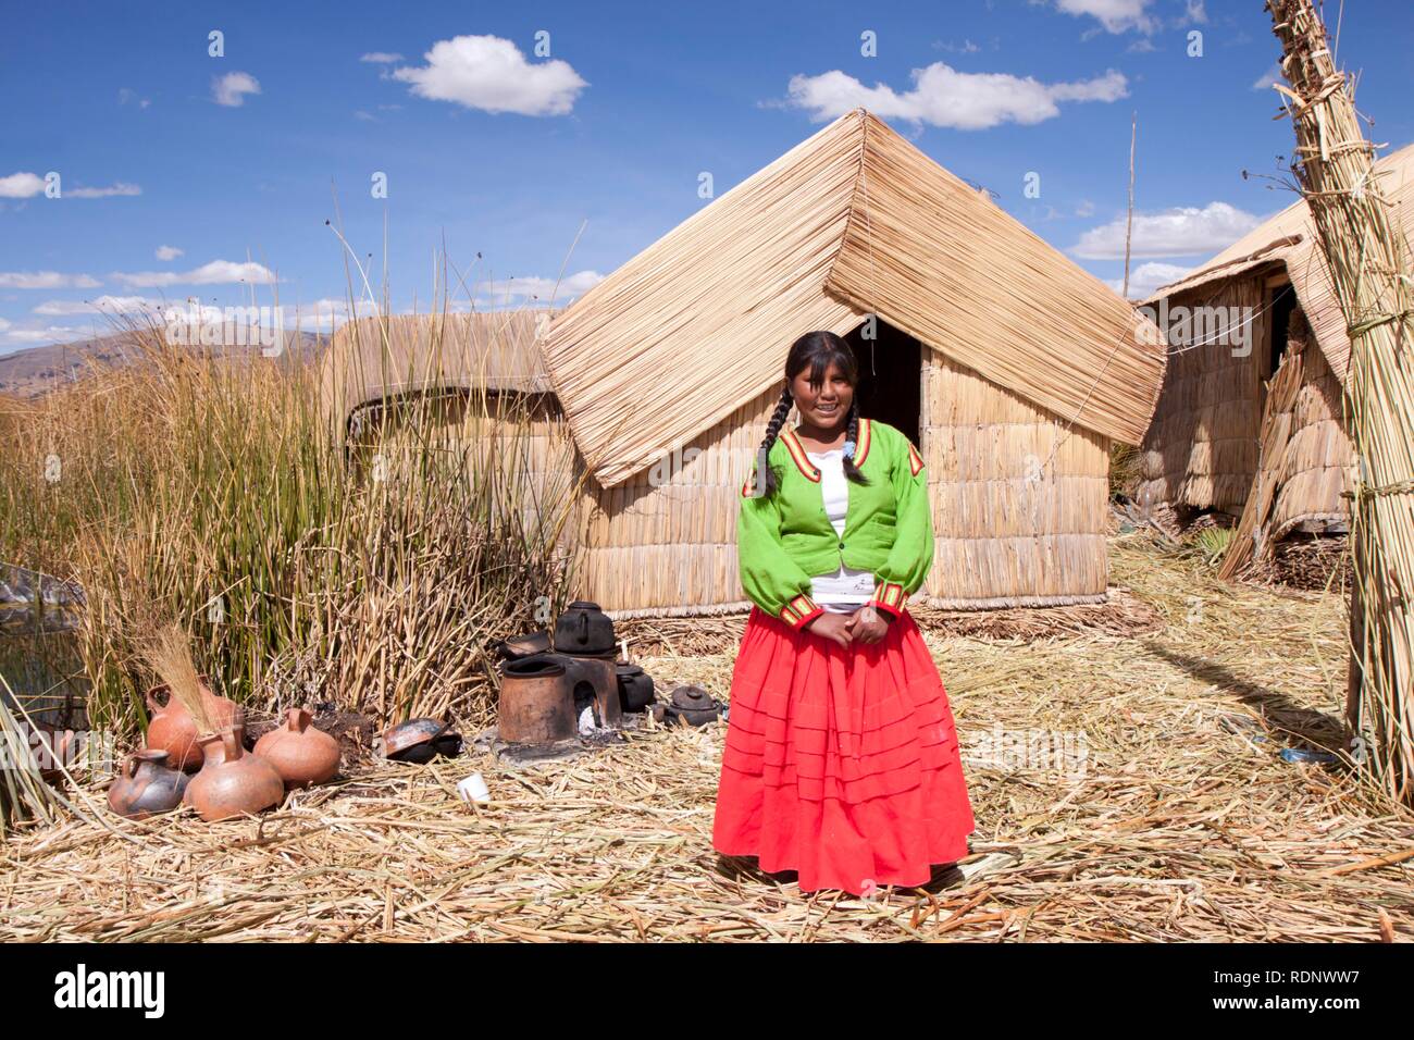
[[[919,886],[976,824],[947,695],[904,600],[933,562],[928,474],[861,419],[854,354],[807,333],[741,488],[755,604],[731,676],[713,846],[802,891]],[[792,403],[800,424],[782,430]],[[768,466],[761,466],[761,458]]]

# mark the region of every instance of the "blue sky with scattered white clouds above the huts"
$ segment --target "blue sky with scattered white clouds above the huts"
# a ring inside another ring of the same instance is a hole
[[[375,284],[386,248],[396,310],[426,308],[444,245],[461,303],[543,299],[561,267],[563,300],[707,205],[703,171],[720,195],[858,103],[1116,284],[1134,112],[1140,289],[1294,198],[1241,177],[1280,174],[1292,140],[1258,86],[1277,58],[1260,0],[64,3],[3,18],[0,354],[106,331],[100,311],[144,301],[239,306],[253,283],[328,328],[349,300],[337,211]],[[1346,4],[1338,59],[1362,71],[1370,136],[1396,147],[1414,140],[1411,42],[1408,0]]]

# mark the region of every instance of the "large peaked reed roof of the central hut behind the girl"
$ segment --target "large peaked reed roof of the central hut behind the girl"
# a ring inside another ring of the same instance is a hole
[[[1137,443],[1158,399],[1157,330],[864,109],[621,266],[543,349],[612,485],[766,392],[797,335],[868,313],[1107,437]]]

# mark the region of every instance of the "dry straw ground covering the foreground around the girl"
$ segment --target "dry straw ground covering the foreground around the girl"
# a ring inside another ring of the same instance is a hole
[[[1278,754],[1340,744],[1339,601],[1222,584],[1143,533],[1110,556],[1148,618],[1128,634],[929,625],[970,760],[970,879],[806,897],[718,860],[720,723],[519,771],[383,767],[218,826],[113,821],[95,790],[92,819],[0,846],[0,940],[1414,940],[1414,815]],[[728,692],[731,648],[672,642],[643,661],[662,689]],[[998,724],[1083,733],[1082,767],[983,763]],[[472,770],[488,805],[457,799]]]

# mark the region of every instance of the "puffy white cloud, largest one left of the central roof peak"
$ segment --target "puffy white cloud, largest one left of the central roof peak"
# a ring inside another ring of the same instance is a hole
[[[566,61],[529,62],[509,40],[440,40],[416,68],[393,69],[419,98],[450,100],[482,112],[563,116],[588,83]]]

